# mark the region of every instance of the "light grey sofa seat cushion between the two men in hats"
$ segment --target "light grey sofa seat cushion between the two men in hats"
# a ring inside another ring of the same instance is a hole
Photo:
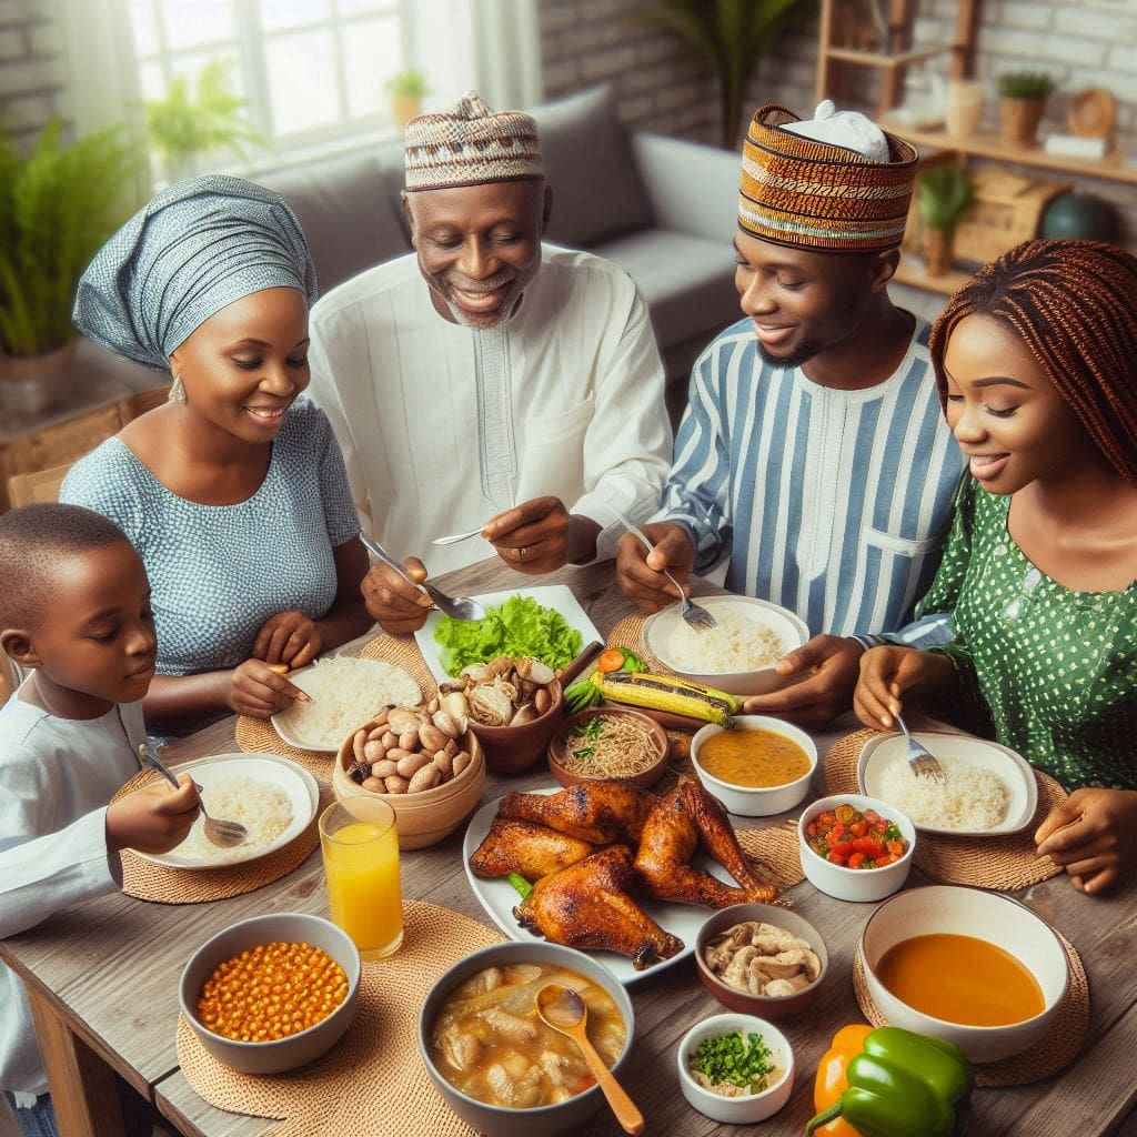
[[[652,314],[659,350],[700,333],[709,343],[739,318],[735,257],[723,241],[653,229],[596,246],[636,281]]]

